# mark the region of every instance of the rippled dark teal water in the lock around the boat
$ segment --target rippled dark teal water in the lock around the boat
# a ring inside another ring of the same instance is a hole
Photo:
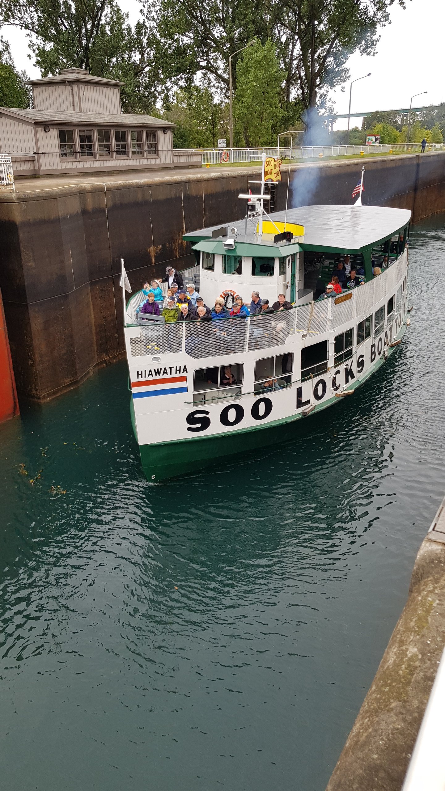
[[[323,791],[445,490],[444,252],[413,229],[401,347],[281,447],[146,483],[124,363],[0,426],[4,789]]]

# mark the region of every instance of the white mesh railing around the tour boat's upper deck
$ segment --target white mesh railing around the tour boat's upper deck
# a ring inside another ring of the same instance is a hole
[[[127,325],[131,357],[185,353],[198,360],[284,346],[296,335],[323,335],[371,313],[384,297],[395,296],[405,261],[403,255],[378,277],[352,291],[290,310],[212,321]]]

